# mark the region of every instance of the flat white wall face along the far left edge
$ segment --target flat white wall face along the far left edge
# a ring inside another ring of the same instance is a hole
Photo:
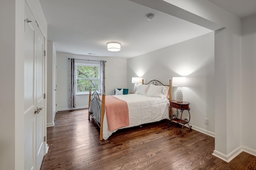
[[[17,107],[20,110],[20,113],[15,112],[15,34],[16,34],[16,16],[15,16],[15,0],[2,0],[0,1],[0,51],[1,51],[1,62],[0,62],[0,78],[1,80],[1,95],[5,96],[0,98],[0,169],[15,169],[15,116],[21,118],[21,121],[24,120],[20,116],[24,107]],[[24,11],[19,12],[24,16]],[[8,16],[8,17],[2,17]],[[22,18],[21,18],[22,19]],[[10,22],[10,21],[12,22]],[[6,23],[6,24],[2,24]],[[22,52],[22,51],[21,51]],[[24,52],[23,52],[24,53]],[[22,61],[21,56],[21,61]],[[18,71],[22,71],[22,68],[17,68]],[[8,70],[8,74],[7,71]],[[24,72],[24,69],[23,69]],[[19,76],[24,76],[19,74]],[[23,83],[22,80],[19,81]],[[21,88],[24,89],[24,85],[21,85]],[[22,96],[22,94],[19,94]],[[24,102],[23,102],[24,103]],[[22,122],[21,122],[22,123]],[[22,124],[21,124],[22,126]],[[24,125],[23,125],[24,126]],[[20,133],[24,134],[24,131],[20,129]],[[21,136],[19,139],[24,141],[24,138]],[[24,154],[24,150],[20,150],[20,154]],[[20,164],[22,165],[22,164]],[[24,164],[23,164],[24,166]]]

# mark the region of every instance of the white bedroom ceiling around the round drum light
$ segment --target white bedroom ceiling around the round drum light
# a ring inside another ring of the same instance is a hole
[[[226,8],[223,1],[244,0],[210,1]],[[78,55],[131,58],[212,31],[129,0],[40,0],[40,3],[48,23],[48,40],[54,42],[56,51]],[[242,7],[238,9],[235,12]],[[147,20],[149,13],[155,15],[154,20]],[[121,51],[107,51],[107,43],[111,41],[121,43]]]

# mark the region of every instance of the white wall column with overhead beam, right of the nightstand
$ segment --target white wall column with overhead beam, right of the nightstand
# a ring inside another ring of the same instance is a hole
[[[131,1],[215,31],[214,155],[229,162],[242,152],[241,19],[207,0]]]

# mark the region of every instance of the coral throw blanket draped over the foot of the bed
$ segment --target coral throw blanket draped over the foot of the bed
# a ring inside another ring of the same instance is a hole
[[[129,126],[130,120],[127,102],[114,96],[105,97],[105,107],[109,130],[114,131],[120,127]]]

